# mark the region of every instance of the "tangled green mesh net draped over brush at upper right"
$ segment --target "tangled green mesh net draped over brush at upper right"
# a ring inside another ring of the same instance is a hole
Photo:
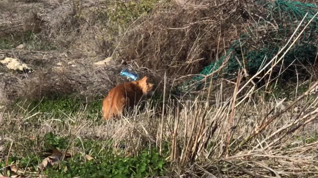
[[[286,44],[301,20],[308,13],[295,35],[301,32],[301,29],[317,13],[318,6],[308,3],[276,0],[266,5],[266,9],[267,17],[260,19],[257,27],[250,28],[248,33],[242,34],[240,39],[232,43],[227,51],[227,54],[232,52],[230,56],[221,56],[219,60],[204,67],[200,74],[208,75],[217,70],[227,57],[229,57],[229,60],[224,68],[224,73],[234,73],[240,68],[237,59],[243,61],[242,53],[245,60],[248,61],[249,73],[257,73],[261,65],[271,60],[280,48]],[[299,62],[313,62],[312,60],[315,60],[317,53],[317,37],[318,16],[309,24],[293,48],[285,55],[284,65],[291,64],[295,59]],[[217,77],[217,73],[214,77]],[[203,76],[196,76],[184,84],[183,87],[203,78]]]

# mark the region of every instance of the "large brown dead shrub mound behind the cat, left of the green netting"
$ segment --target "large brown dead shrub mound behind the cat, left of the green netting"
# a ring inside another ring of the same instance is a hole
[[[122,42],[120,60],[164,69],[168,76],[199,73],[239,37],[248,20],[246,9],[252,5],[251,1],[161,4],[133,25]]]

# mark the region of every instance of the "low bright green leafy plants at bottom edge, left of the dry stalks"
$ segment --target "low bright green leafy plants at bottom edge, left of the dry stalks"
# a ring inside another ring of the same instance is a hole
[[[96,158],[96,162],[83,161],[80,155],[62,162],[61,165],[44,171],[50,177],[147,177],[165,174],[167,163],[158,152],[143,150],[136,157],[114,156],[107,152]]]

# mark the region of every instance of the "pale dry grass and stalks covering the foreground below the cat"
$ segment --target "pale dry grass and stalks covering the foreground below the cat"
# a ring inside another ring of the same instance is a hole
[[[235,93],[225,102],[218,98],[214,105],[202,104],[200,98],[194,102],[170,99],[162,118],[147,105],[145,112],[103,124],[97,124],[99,117],[87,119],[85,111],[65,113],[58,119],[42,115],[34,123],[31,120],[36,115],[20,110],[3,113],[1,124],[6,127],[1,137],[28,140],[52,131],[61,137],[111,139],[114,155],[122,152],[117,148],[119,143],[125,143],[124,152],[133,155],[145,149],[145,143],[156,145],[158,150],[160,143],[173,143],[169,144],[167,160],[174,176],[316,175],[317,98],[300,97],[288,103],[249,99],[233,107],[238,102],[235,98]],[[295,112],[295,103],[301,111]],[[14,154],[43,149],[43,140],[37,140],[37,148],[29,149],[27,142],[18,140],[14,141]],[[88,148],[69,148],[73,153],[83,149]]]

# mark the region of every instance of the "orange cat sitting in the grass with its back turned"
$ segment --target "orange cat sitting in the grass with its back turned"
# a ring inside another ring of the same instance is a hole
[[[131,111],[152,87],[153,84],[147,82],[147,76],[115,86],[103,100],[103,118],[110,119]]]

